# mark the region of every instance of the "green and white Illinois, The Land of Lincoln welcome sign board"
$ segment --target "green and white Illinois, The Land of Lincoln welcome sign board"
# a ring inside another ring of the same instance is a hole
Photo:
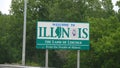
[[[36,48],[89,50],[89,23],[37,22]]]

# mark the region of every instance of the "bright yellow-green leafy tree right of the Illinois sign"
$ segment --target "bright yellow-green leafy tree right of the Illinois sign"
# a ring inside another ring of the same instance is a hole
[[[117,17],[90,18],[90,50],[81,51],[82,68],[119,68],[119,29]],[[113,24],[114,22],[114,24]],[[64,68],[76,66],[76,52],[68,54]],[[113,63],[115,62],[115,63]],[[117,65],[116,65],[117,64]]]

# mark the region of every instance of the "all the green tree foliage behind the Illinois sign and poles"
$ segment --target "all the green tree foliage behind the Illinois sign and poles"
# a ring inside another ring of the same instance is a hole
[[[120,1],[116,5],[120,8]],[[10,15],[0,12],[0,63],[21,63],[24,0],[12,0]],[[36,21],[90,23],[90,50],[81,51],[81,68],[120,68],[120,9],[111,0],[28,0],[26,64],[45,65],[36,49]],[[49,66],[75,68],[76,51],[50,50]]]

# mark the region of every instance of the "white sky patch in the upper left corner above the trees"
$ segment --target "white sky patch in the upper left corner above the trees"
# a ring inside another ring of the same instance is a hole
[[[0,0],[0,11],[3,14],[9,14],[11,0]]]

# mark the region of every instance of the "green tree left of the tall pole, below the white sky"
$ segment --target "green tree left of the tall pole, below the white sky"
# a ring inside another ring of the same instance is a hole
[[[10,15],[2,15],[0,16],[0,63],[13,63],[17,62],[20,57],[19,56],[19,42],[17,41],[20,39],[19,34],[21,33],[19,31],[20,24],[15,19],[14,16]],[[18,28],[16,30],[16,28]]]

